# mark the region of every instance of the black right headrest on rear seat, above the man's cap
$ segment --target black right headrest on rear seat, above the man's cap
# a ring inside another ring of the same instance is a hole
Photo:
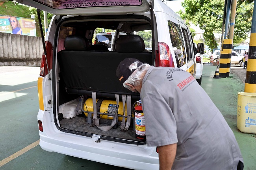
[[[139,35],[122,35],[117,39],[116,51],[127,52],[143,52],[145,50],[145,44],[143,39]]]

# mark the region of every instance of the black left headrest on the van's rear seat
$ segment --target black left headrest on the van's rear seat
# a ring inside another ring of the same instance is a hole
[[[80,37],[78,35],[69,35],[64,41],[66,50],[84,51],[87,50],[89,46],[89,40],[86,37]]]

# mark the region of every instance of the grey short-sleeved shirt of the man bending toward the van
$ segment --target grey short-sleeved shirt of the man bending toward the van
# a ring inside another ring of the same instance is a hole
[[[234,133],[194,77],[151,66],[142,82],[148,146],[177,143],[174,170],[236,170],[243,162]]]

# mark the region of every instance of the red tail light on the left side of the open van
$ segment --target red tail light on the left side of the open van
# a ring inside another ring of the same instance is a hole
[[[46,48],[46,57],[47,57],[47,64],[49,71],[52,69],[52,44],[49,41],[45,41],[45,48]],[[45,75],[48,74],[45,54],[43,52],[42,60],[41,60],[41,66],[40,66],[40,73],[42,77],[45,77]]]

